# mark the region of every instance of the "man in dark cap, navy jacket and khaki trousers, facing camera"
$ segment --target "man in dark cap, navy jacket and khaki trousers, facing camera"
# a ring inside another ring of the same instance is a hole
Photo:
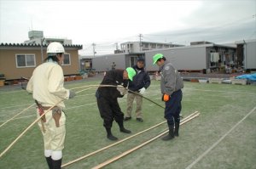
[[[148,76],[148,72],[144,70],[144,64],[145,60],[143,58],[137,59],[137,65],[133,66],[133,69],[137,71],[137,75],[133,77],[132,82],[129,81],[128,85],[129,90],[140,93],[142,95],[150,85],[150,77]],[[131,111],[134,99],[136,99],[137,104],[136,119],[137,121],[143,122],[143,97],[131,92],[128,92],[127,94],[127,110],[124,120],[131,120]]]

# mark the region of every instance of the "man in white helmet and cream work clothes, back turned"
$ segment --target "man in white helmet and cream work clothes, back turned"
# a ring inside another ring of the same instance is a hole
[[[37,115],[57,104],[38,122],[44,137],[44,156],[49,169],[60,169],[62,149],[66,135],[66,116],[63,113],[65,104],[63,99],[72,99],[75,93],[63,87],[64,76],[61,64],[65,50],[61,43],[51,42],[47,48],[47,59],[39,65],[27,83],[26,90],[32,92],[37,103]]]

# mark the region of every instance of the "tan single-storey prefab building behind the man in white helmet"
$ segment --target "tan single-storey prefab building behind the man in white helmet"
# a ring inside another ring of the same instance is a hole
[[[65,59],[62,65],[64,75],[79,73],[79,49],[82,45],[63,45]],[[20,79],[20,76],[31,77],[32,71],[44,62],[47,45],[26,43],[0,44],[0,74],[6,80]]]

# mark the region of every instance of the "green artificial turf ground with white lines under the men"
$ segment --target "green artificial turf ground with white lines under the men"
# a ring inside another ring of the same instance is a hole
[[[67,88],[99,84],[101,80],[82,80],[65,84]],[[74,89],[75,92],[84,88]],[[102,149],[113,141],[106,138],[102,119],[96,106],[96,87],[78,93],[74,99],[65,101],[67,113],[67,137],[62,164],[73,161],[90,152]],[[32,94],[21,89],[0,90],[0,125],[33,104]],[[160,82],[152,81],[145,97],[164,106],[161,101]],[[207,149],[216,144],[238,121],[256,106],[256,87],[230,84],[208,84],[184,82],[182,115],[195,111],[201,115],[180,128],[180,136],[164,142],[160,138],[141,149],[126,155],[105,168],[186,168],[195,163]],[[123,112],[126,97],[119,99]],[[143,122],[136,121],[133,110],[131,121],[125,127],[131,134],[152,127],[164,119],[164,110],[143,99]],[[26,110],[15,120],[0,127],[0,151],[3,152],[19,134],[35,121],[35,107]],[[256,168],[256,110],[214,146],[192,168]],[[166,124],[131,138],[112,148],[91,155],[65,168],[91,168],[116,155],[120,155],[138,144],[143,144],[166,129]],[[119,140],[131,136],[119,132],[113,122],[113,135]],[[44,143],[38,125],[34,125],[9,151],[0,158],[0,168],[47,168],[44,159]]]

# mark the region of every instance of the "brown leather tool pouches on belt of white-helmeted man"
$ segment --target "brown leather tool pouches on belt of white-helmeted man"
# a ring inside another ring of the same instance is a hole
[[[49,106],[42,106],[42,104],[39,104],[42,110],[49,110],[51,107]],[[39,108],[38,108],[39,109]],[[60,119],[61,119],[61,109],[57,106],[53,107],[51,109],[52,111],[52,117],[55,120],[55,126],[56,127],[60,127]],[[39,109],[40,112],[40,109]],[[44,112],[43,112],[44,113]],[[41,112],[39,113],[39,115],[43,115],[43,113],[41,114]],[[46,122],[46,118],[45,115],[42,116],[42,120],[44,122]]]

